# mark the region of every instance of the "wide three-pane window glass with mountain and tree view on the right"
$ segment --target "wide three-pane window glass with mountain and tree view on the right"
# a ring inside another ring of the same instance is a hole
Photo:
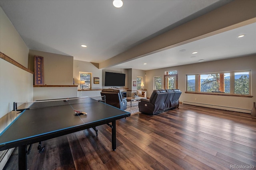
[[[187,92],[250,95],[251,71],[186,75]]]

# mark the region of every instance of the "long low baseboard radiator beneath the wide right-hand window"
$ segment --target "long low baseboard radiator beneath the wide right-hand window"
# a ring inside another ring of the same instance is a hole
[[[250,109],[241,109],[241,108],[237,108],[237,107],[217,106],[217,105],[211,105],[211,104],[203,104],[203,103],[196,103],[196,102],[186,102],[186,101],[183,101],[182,104],[189,104],[189,105],[202,106],[202,107],[210,107],[210,108],[214,108],[214,109],[238,111],[238,112],[243,112],[243,113],[251,113]]]

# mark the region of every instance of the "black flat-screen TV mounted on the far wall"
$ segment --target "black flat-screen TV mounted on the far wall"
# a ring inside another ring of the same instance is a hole
[[[105,86],[125,86],[125,74],[106,72]]]

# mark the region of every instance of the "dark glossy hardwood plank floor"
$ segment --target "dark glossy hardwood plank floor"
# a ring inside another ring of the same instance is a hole
[[[117,149],[108,125],[34,144],[30,170],[180,170],[256,168],[256,117],[181,104],[157,115],[117,121]],[[18,168],[17,149],[5,170]],[[241,167],[238,167],[241,166]]]

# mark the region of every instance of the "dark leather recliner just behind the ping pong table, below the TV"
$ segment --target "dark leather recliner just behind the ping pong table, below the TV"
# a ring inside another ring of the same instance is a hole
[[[122,110],[127,109],[126,97],[122,97],[120,90],[102,89],[100,95],[105,96],[106,104],[109,104]]]

